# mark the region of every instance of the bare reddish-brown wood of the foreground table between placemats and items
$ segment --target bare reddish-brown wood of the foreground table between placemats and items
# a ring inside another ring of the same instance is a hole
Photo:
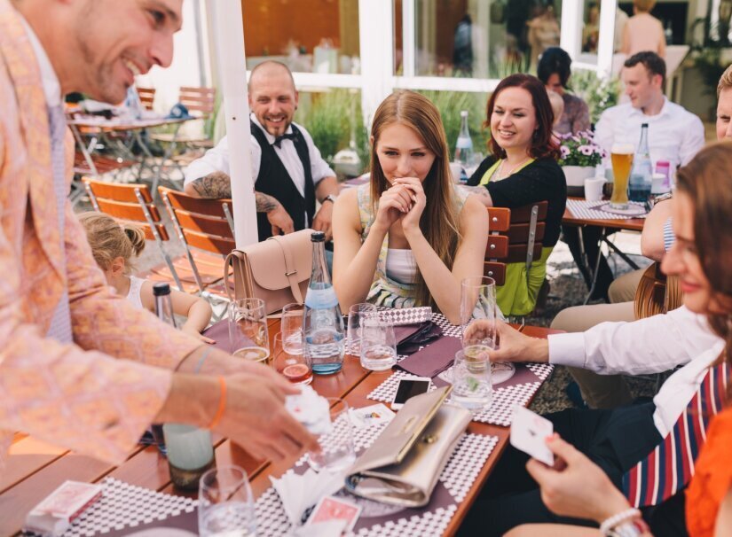
[[[270,338],[279,331],[279,319],[269,323]],[[524,326],[523,333],[535,338],[546,338],[556,333],[546,328]],[[373,404],[366,399],[377,385],[390,373],[364,370],[358,359],[347,355],[342,370],[329,376],[316,375],[312,387],[327,397],[341,397],[354,407]],[[498,437],[498,443],[486,461],[466,499],[460,503],[445,534],[452,535],[460,526],[468,509],[476,498],[501,453],[508,444],[508,428],[471,422],[468,432],[491,434]],[[279,476],[287,467],[281,464],[258,461],[231,441],[215,437],[216,464],[238,464],[251,479],[255,495],[262,494],[270,481],[269,475]],[[106,477],[120,479],[131,485],[145,486],[169,494],[185,495],[175,489],[168,473],[168,462],[154,446],[136,448],[130,457],[115,467],[85,455],[78,455],[63,448],[57,448],[23,434],[13,440],[5,470],[0,474],[0,536],[20,532],[26,515],[38,502],[67,479],[96,482]]]

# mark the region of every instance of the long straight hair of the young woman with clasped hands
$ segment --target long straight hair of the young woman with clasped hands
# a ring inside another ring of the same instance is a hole
[[[384,128],[395,123],[412,128],[429,151],[435,154],[435,162],[427,174],[422,188],[427,205],[420,218],[420,229],[432,249],[448,269],[453,269],[455,252],[460,241],[458,210],[450,171],[450,156],[447,150],[445,128],[437,107],[429,98],[408,90],[395,91],[386,97],[374,114],[371,134],[371,203],[373,212],[382,193],[390,188],[386,180],[376,147]],[[418,305],[435,306],[427,284],[419,269],[414,280],[415,301]]]

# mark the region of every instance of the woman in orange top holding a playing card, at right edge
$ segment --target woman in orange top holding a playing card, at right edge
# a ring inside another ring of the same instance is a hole
[[[677,191],[672,202],[676,242],[662,265],[666,274],[681,278],[681,286],[686,292],[685,306],[698,315],[704,315],[710,331],[720,341],[720,344],[704,353],[710,359],[707,366],[697,373],[697,382],[702,382],[701,379],[712,374],[709,370],[718,364],[723,364],[728,372],[729,366],[732,366],[732,280],[729,277],[732,239],[728,234],[720,236],[718,232],[732,227],[732,215],[729,212],[732,182],[728,181],[732,175],[730,162],[732,144],[717,143],[705,147],[689,166],[679,171]],[[691,537],[732,535],[732,408],[729,408],[730,385],[725,381],[726,377],[728,374],[720,372],[719,377],[716,377],[717,385],[711,383],[704,397],[699,398],[694,409],[696,412],[689,412],[685,420],[685,424],[689,424],[688,432],[684,432],[684,427],[667,432],[672,437],[675,434],[688,435],[687,443],[698,442],[701,445],[696,462],[687,460],[686,457],[693,453],[689,448],[681,451],[657,450],[657,457],[661,461],[665,456],[673,456],[680,461],[678,464],[681,466],[691,464],[690,474],[693,477],[689,487],[684,490],[681,486],[678,492],[655,508],[661,510],[675,503],[679,515],[683,515],[685,510],[685,524],[684,518],[679,516],[681,525],[676,527],[656,526],[651,529],[644,525],[642,518],[652,517],[652,511],[630,510],[631,502],[618,488],[617,480],[610,479],[603,471],[603,463],[598,466],[594,454],[591,453],[588,458],[581,453],[582,448],[573,448],[556,435],[547,440],[547,447],[558,457],[555,466],[550,468],[535,460],[526,465],[526,470],[539,484],[541,497],[547,507],[563,517],[592,520],[596,524],[625,513],[622,520],[608,524],[609,530],[615,533],[606,532],[606,535],[666,536],[687,534],[687,531]],[[671,378],[667,382],[670,381]],[[714,402],[709,401],[709,397]],[[713,416],[712,407],[717,407],[720,413]],[[700,424],[702,420],[711,420],[711,426],[705,432],[705,426]],[[673,440],[671,444],[678,446]],[[652,460],[650,464],[653,464]],[[673,482],[681,475],[673,469],[670,470],[672,475],[669,475],[666,468],[663,465],[659,468],[659,471],[665,472],[657,481],[659,489],[667,488],[668,480]],[[636,482],[653,485],[651,480],[640,479]],[[631,487],[626,494],[633,497],[635,492]],[[646,491],[641,494],[644,493],[649,494]],[[524,525],[508,534],[511,537],[571,537],[586,535],[586,531],[586,528],[568,525]]]

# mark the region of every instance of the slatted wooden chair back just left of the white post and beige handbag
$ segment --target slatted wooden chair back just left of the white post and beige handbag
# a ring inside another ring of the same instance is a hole
[[[220,274],[224,273],[224,258],[236,247],[232,200],[193,198],[164,186],[159,186],[158,192],[168,209],[178,238],[185,245],[185,254],[202,293],[206,285],[201,280],[191,248],[221,255]]]

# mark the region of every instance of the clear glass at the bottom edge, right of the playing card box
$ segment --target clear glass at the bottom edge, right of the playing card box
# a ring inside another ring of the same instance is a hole
[[[198,500],[201,537],[256,535],[254,497],[247,472],[239,466],[223,466],[203,474]]]

